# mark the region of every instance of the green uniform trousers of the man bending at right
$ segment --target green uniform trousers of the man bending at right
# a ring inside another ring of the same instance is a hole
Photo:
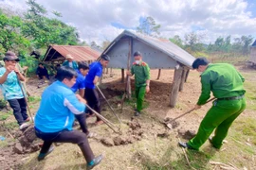
[[[246,106],[245,97],[238,100],[214,101],[213,106],[201,122],[196,136],[188,144],[193,149],[199,150],[199,147],[208,140],[211,132],[216,128],[211,144],[220,148],[232,122],[246,109]]]

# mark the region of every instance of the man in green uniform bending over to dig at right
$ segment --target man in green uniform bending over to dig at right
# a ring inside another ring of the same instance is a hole
[[[210,144],[220,149],[228,135],[232,122],[246,109],[245,78],[228,63],[209,63],[206,58],[195,59],[192,68],[201,73],[202,92],[194,106],[195,110],[206,104],[213,93],[216,100],[202,120],[197,134],[188,143],[179,145],[194,150],[209,139]],[[215,129],[214,136],[210,134]]]

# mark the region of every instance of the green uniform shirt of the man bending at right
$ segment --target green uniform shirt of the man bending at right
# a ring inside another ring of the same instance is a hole
[[[245,78],[228,63],[209,64],[201,75],[202,93],[197,105],[203,105],[210,98],[210,91],[216,98],[238,96],[246,93]]]

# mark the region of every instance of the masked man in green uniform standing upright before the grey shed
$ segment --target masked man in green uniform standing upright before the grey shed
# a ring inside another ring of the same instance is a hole
[[[134,58],[135,62],[133,63],[131,72],[127,71],[127,75],[135,75],[137,98],[137,110],[135,116],[138,116],[142,110],[145,93],[150,92],[150,68],[146,62],[142,61],[140,52],[135,52]]]

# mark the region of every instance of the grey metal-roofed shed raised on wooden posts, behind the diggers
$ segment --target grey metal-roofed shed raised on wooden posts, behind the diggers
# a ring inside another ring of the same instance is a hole
[[[109,68],[121,68],[122,79],[124,79],[124,69],[131,67],[133,54],[136,51],[142,53],[143,60],[151,69],[159,69],[159,74],[160,69],[175,69],[170,100],[170,106],[174,107],[177,93],[182,91],[195,58],[173,42],[127,30],[111,42],[102,54],[110,56]],[[129,77],[127,82],[130,84]],[[130,85],[127,86],[127,92],[131,93]]]

